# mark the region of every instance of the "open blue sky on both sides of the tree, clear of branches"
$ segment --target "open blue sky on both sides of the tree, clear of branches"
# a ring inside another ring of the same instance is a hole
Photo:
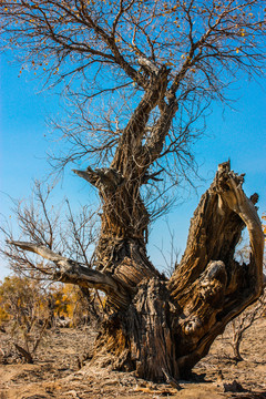
[[[38,94],[40,84],[19,68],[8,63],[8,57],[1,59],[0,80],[0,206],[1,213],[9,217],[11,197],[23,198],[31,193],[34,178],[43,178],[49,171],[45,153],[53,145],[49,140],[45,124],[49,115],[60,115],[58,99],[51,93]],[[206,135],[195,145],[200,174],[206,182],[196,182],[197,193],[191,191],[187,200],[176,206],[167,216],[168,226],[174,231],[176,247],[185,248],[190,219],[201,195],[212,182],[217,164],[231,157],[232,168],[246,173],[245,192],[257,192],[259,214],[266,211],[266,81],[258,83],[242,80],[238,90],[231,98],[238,99],[234,106],[237,111],[213,105],[207,119]],[[88,184],[72,173],[65,175],[57,191],[55,202],[64,195],[74,202],[91,202]],[[150,255],[156,266],[163,264],[156,247],[170,250],[165,218],[152,226]],[[3,262],[0,264],[0,279],[9,273]]]

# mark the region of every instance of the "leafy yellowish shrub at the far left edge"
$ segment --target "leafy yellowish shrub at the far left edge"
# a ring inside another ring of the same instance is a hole
[[[11,276],[0,285],[1,331],[30,364],[49,326],[47,297],[44,287],[35,279]]]

